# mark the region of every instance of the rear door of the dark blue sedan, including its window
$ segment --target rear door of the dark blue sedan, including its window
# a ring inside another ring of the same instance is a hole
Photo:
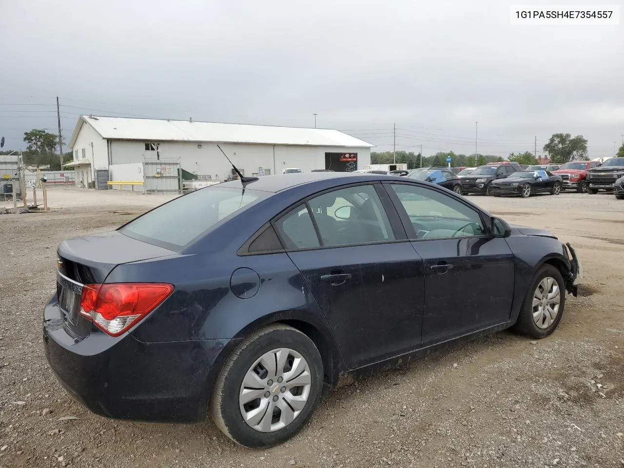
[[[422,259],[409,242],[397,242],[406,235],[381,184],[310,198],[275,227],[349,368],[420,346]]]

